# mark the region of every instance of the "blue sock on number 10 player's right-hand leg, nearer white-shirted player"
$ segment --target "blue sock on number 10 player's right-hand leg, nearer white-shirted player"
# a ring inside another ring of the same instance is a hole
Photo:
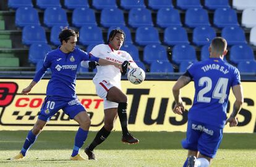
[[[88,131],[85,131],[82,128],[78,129],[77,134],[75,135],[75,145],[71,157],[75,157],[75,155],[79,153],[80,148],[87,138],[87,134]]]

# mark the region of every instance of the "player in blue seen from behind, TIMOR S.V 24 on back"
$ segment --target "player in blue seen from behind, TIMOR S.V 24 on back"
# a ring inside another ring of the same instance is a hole
[[[187,137],[182,147],[188,150],[184,166],[210,166],[223,137],[223,128],[237,125],[237,113],[241,110],[244,97],[239,71],[223,60],[227,42],[216,37],[209,47],[210,58],[196,62],[187,68],[173,86],[175,106],[173,112],[179,115],[184,111],[180,89],[194,81],[194,103],[188,113]],[[233,112],[227,119],[229,91],[232,88],[236,101]]]

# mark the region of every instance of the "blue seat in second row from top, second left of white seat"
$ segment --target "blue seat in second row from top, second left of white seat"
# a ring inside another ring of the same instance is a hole
[[[210,25],[207,10],[202,8],[187,9],[185,15],[185,25],[189,28]]]

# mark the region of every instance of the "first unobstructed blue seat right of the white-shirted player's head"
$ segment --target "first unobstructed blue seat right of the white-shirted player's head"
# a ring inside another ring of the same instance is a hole
[[[140,26],[135,33],[135,43],[140,46],[160,44],[158,30],[153,26]]]

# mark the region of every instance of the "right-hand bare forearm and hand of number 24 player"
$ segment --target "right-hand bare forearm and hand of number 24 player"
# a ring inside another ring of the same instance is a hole
[[[238,121],[237,121],[236,115],[237,113],[240,112],[242,108],[242,104],[244,102],[244,96],[242,94],[241,84],[237,84],[236,86],[233,86],[232,91],[234,96],[236,97],[236,101],[234,102],[234,105],[233,105],[233,112],[231,113],[228,120],[226,121],[226,123],[229,123],[230,127],[237,126]]]

